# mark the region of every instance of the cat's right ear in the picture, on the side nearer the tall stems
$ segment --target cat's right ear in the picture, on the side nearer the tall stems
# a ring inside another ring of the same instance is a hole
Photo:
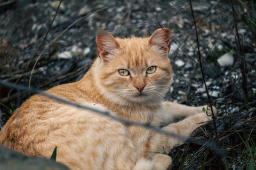
[[[158,50],[163,53],[163,55],[168,55],[170,51],[170,29],[167,28],[160,28],[157,29],[152,36],[148,39],[148,43],[151,46],[156,46]]]

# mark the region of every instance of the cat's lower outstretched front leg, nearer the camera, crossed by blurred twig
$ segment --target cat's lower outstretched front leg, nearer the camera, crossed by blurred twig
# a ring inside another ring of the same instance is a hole
[[[209,111],[210,112],[210,111]],[[211,114],[211,113],[210,113]],[[214,113],[215,114],[215,113]],[[191,133],[200,125],[200,122],[207,122],[211,120],[205,113],[198,113],[184,120],[169,124],[162,129],[164,131],[172,132],[182,138],[175,138],[166,136],[164,134],[156,133],[150,141],[150,151],[164,153],[170,151],[174,146],[181,145],[191,135]]]

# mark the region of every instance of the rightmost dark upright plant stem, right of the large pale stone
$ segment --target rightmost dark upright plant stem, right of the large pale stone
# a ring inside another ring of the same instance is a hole
[[[236,11],[234,8],[234,3],[233,3],[233,0],[230,0],[230,1],[231,1],[231,7],[232,7],[232,14],[233,14],[233,18],[234,18],[234,26],[236,29],[236,38],[237,38],[236,45],[239,50],[239,53],[237,53],[237,54],[239,55],[239,57],[241,59],[241,71],[242,71],[242,79],[243,79],[242,87],[243,87],[243,92],[244,92],[244,103],[247,103],[248,92],[247,92],[247,88],[246,88],[247,87],[246,62],[245,62],[245,58],[244,58],[244,52],[243,52],[243,49],[241,46],[240,34],[238,33],[238,30],[237,30]]]

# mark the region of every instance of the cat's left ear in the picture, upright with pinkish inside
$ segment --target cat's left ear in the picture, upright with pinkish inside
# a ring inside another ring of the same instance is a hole
[[[115,55],[118,48],[116,39],[106,31],[99,31],[96,36],[96,44],[98,46],[98,56],[100,59],[106,61],[110,55]]]

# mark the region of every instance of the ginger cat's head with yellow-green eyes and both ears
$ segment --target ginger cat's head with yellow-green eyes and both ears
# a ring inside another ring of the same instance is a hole
[[[157,29],[149,38],[96,37],[99,58],[93,76],[102,94],[119,104],[156,104],[170,88],[170,30]]]

